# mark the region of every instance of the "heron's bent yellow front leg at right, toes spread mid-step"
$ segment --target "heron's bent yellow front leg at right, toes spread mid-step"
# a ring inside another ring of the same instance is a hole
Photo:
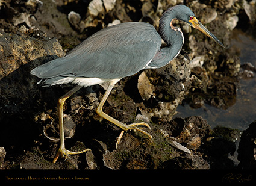
[[[148,132],[143,131],[140,128],[137,128],[137,126],[139,126],[139,125],[144,125],[144,126],[146,126],[147,128],[150,129],[150,126],[147,123],[142,122],[142,123],[132,123],[130,125],[126,125],[125,123],[119,122],[118,120],[114,119],[113,117],[108,116],[108,114],[106,114],[102,111],[102,107],[105,104],[105,101],[107,100],[108,95],[110,95],[110,92],[111,92],[112,88],[114,87],[114,84],[116,84],[116,82],[111,81],[110,84],[108,85],[108,88],[107,88],[101,102],[99,103],[98,108],[96,109],[96,113],[99,116],[103,117],[104,119],[108,120],[109,122],[114,123],[114,125],[117,125],[117,126],[119,126],[120,128],[123,129],[123,131],[119,135],[119,138],[117,139],[116,148],[117,148],[117,145],[120,143],[120,140],[123,136],[123,132],[128,131],[128,130],[132,130],[132,129],[134,129],[136,131],[139,131],[139,132],[142,132],[145,135],[148,135],[148,137],[151,138],[151,141],[152,141],[153,140],[152,135],[148,134]]]

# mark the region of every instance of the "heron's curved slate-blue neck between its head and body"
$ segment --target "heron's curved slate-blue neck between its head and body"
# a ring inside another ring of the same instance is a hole
[[[172,25],[173,20],[176,19],[175,17],[173,13],[163,14],[161,17],[159,34],[167,46],[157,52],[148,68],[163,67],[180,53],[184,43],[184,37],[181,29]]]

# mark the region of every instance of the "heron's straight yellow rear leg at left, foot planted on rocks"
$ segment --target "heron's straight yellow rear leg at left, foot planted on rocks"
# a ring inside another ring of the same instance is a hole
[[[80,85],[77,85],[72,90],[68,91],[65,95],[61,96],[58,99],[58,119],[59,119],[59,125],[60,125],[60,148],[58,149],[57,155],[55,156],[53,163],[56,163],[59,156],[61,156],[61,158],[65,158],[66,160],[69,157],[69,154],[75,155],[75,154],[84,153],[90,150],[90,149],[85,149],[79,152],[72,152],[65,149],[65,143],[64,143],[63,105],[66,99],[72,96],[73,93],[75,93],[76,91],[80,90],[80,88],[82,87]]]

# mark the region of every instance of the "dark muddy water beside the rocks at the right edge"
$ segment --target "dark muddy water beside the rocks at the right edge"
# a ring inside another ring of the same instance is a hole
[[[249,62],[256,66],[256,39],[248,34],[234,29],[231,48],[239,52],[241,65]],[[188,104],[177,108],[175,117],[201,115],[208,120],[211,128],[217,125],[245,130],[256,120],[256,75],[252,78],[240,79],[237,89],[236,104],[226,110],[204,104],[201,108],[191,108]]]

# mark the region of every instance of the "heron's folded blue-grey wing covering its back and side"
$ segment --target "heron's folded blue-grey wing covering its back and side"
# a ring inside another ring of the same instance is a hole
[[[123,78],[145,68],[160,45],[161,37],[154,26],[122,23],[98,31],[65,57],[49,61],[31,73],[39,78]]]

